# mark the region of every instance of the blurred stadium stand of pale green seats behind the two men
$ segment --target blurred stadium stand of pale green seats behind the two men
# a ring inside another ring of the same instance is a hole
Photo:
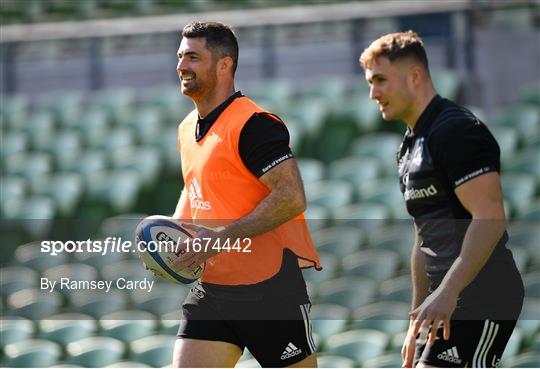
[[[539,1],[1,0],[0,11],[3,366],[170,364],[186,288],[41,292],[44,275],[145,274],[128,255],[47,257],[38,241],[132,239],[144,214],[174,211],[176,129],[193,109],[176,50],[198,19],[233,26],[237,88],[291,133],[324,266],[305,274],[321,366],[401,366],[413,237],[394,162],[404,125],[381,121],[358,57],[409,29],[439,93],[501,146],[527,291],[503,363],[540,366]],[[239,366],[253,365],[246,352]]]

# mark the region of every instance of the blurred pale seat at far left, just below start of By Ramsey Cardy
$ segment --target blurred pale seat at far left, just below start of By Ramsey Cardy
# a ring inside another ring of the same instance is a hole
[[[57,291],[26,288],[9,295],[7,305],[10,314],[33,320],[44,319],[59,311],[62,296]]]

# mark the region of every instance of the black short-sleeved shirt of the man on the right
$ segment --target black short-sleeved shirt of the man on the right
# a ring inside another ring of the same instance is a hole
[[[469,110],[438,95],[414,129],[405,134],[397,156],[400,188],[418,228],[418,247],[426,255],[432,289],[461,252],[471,222],[471,214],[454,189],[484,173],[499,172],[499,156],[499,146],[486,125]],[[477,294],[479,289],[488,292],[505,273],[515,276],[517,269],[506,248],[507,241],[505,232],[464,293]]]

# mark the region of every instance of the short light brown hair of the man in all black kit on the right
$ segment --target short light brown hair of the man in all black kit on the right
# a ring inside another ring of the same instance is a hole
[[[373,61],[384,56],[391,62],[402,58],[413,58],[420,62],[429,74],[424,41],[416,32],[396,32],[381,36],[366,48],[360,55],[363,68],[369,67]]]

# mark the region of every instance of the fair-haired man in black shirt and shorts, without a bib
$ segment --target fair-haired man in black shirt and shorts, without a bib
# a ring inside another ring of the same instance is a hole
[[[437,94],[416,33],[382,36],[360,63],[383,118],[407,124],[397,160],[416,244],[403,366],[497,366],[523,304],[506,247],[499,146],[470,111]]]

